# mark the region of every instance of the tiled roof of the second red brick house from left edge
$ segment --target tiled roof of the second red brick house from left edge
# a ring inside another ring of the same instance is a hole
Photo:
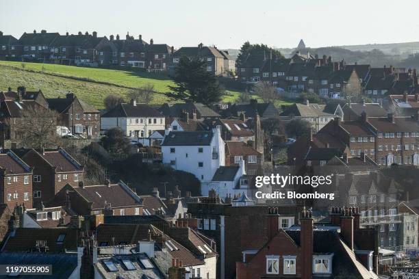
[[[58,150],[43,150],[41,152],[36,152],[36,150],[30,150],[22,159],[24,161],[30,161],[31,154],[38,155],[45,159],[45,161],[56,168],[56,172],[81,172],[83,171],[83,165],[77,162],[71,155],[62,148]],[[34,167],[36,167],[34,165]]]

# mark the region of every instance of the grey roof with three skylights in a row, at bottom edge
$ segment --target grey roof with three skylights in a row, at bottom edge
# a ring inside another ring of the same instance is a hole
[[[164,279],[166,278],[162,271],[155,265],[149,256],[145,253],[138,254],[118,254],[118,255],[99,255],[97,263],[97,271],[103,278],[138,278],[138,279]],[[132,263],[132,270],[125,267],[123,261]],[[148,261],[150,267],[144,267],[144,261]],[[112,262],[116,271],[108,269],[105,263]]]

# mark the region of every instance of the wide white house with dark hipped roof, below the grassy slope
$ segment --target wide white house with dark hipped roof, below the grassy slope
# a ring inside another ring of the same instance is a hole
[[[101,131],[120,128],[127,137],[149,137],[154,131],[165,129],[165,118],[149,105],[120,104],[107,111],[101,118]]]

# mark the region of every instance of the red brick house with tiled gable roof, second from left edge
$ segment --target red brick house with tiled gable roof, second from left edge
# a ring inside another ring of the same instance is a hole
[[[34,204],[50,202],[65,185],[78,186],[83,181],[83,165],[62,148],[31,149],[22,159],[34,169]]]

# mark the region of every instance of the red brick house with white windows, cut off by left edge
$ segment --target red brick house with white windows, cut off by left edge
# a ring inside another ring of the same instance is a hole
[[[0,204],[32,208],[32,169],[14,152],[0,154]]]

